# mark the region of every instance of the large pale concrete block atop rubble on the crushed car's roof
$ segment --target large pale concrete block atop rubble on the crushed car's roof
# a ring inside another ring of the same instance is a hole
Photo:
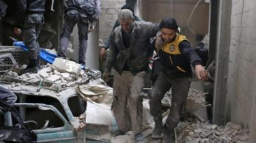
[[[74,61],[56,58],[53,62],[53,69],[57,69],[59,72],[68,72],[70,74],[74,74],[77,78],[81,72],[81,65],[75,63]]]

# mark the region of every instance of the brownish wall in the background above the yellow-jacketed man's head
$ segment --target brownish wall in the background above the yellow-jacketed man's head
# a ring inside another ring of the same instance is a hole
[[[188,29],[187,21],[197,1],[173,0],[173,5],[170,0],[141,0],[139,3],[143,20],[160,22],[162,18],[174,17],[182,33],[195,45],[195,35]],[[190,20],[190,27],[196,34],[205,35],[208,33],[208,22],[209,3],[201,1]]]

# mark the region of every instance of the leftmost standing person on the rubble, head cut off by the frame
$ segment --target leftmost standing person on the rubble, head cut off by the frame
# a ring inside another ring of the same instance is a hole
[[[20,72],[37,73],[39,69],[39,44],[38,37],[44,22],[44,5],[46,0],[17,0],[16,27],[14,33],[23,33],[23,41],[29,52],[29,64],[26,69]],[[22,30],[21,30],[22,29]]]

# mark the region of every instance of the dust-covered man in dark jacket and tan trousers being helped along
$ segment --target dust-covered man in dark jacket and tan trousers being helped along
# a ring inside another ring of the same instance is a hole
[[[145,71],[148,69],[150,37],[156,35],[158,25],[134,21],[132,11],[118,13],[120,26],[111,33],[109,54],[103,79],[107,82],[113,67],[112,110],[122,133],[133,131],[135,141],[143,142],[142,101]]]

